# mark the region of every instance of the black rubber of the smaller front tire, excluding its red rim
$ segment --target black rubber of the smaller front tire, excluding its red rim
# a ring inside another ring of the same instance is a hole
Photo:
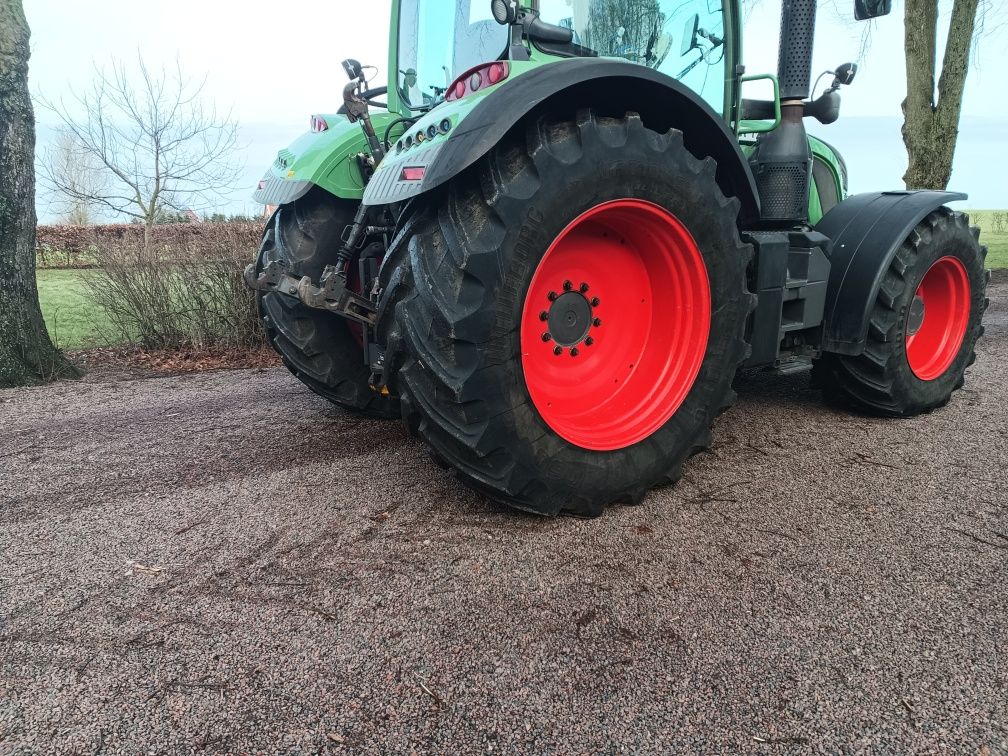
[[[914,229],[893,258],[882,281],[868,327],[863,354],[856,357],[826,354],[812,367],[812,382],[825,398],[870,414],[910,417],[949,403],[963,387],[966,369],[976,360],[977,340],[983,335],[989,271],[984,269],[987,248],[980,230],[970,228],[962,213],[939,208]],[[955,256],[966,266],[971,306],[966,337],[952,365],[933,380],[914,375],[906,359],[906,326],[917,287],[931,265]]]

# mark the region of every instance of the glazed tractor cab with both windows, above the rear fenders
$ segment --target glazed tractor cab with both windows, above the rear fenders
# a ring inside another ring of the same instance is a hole
[[[488,61],[602,56],[659,71],[681,81],[716,111],[729,112],[726,72],[738,55],[735,0],[535,0],[524,5],[528,15],[520,21],[527,48],[512,43],[511,19],[501,23],[489,0],[401,0],[390,79],[402,108],[433,107],[458,77]]]

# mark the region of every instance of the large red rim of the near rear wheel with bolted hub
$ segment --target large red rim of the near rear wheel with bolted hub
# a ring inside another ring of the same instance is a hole
[[[682,404],[710,330],[707,266],[686,228],[640,200],[599,205],[532,276],[521,321],[528,393],[571,444],[632,446]]]

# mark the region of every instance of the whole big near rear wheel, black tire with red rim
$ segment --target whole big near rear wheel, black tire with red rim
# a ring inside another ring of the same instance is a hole
[[[542,119],[397,238],[379,333],[403,418],[467,485],[594,516],[676,481],[735,398],[752,249],[677,131]]]

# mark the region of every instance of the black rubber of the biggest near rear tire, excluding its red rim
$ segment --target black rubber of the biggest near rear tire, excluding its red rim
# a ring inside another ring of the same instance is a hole
[[[679,479],[735,400],[755,305],[740,203],[723,195],[716,168],[690,154],[678,131],[651,131],[636,114],[582,111],[513,132],[416,208],[382,271],[379,338],[403,419],[437,462],[495,500],[546,515],[596,516]],[[711,335],[696,383],[664,425],[631,447],[593,452],[535,410],[517,324],[557,234],[586,210],[625,198],[667,208],[692,233],[711,281]]]

